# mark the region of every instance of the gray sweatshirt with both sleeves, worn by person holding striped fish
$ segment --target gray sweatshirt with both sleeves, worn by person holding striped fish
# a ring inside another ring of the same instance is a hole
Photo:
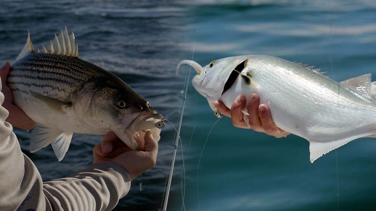
[[[0,91],[1,91],[0,83]],[[4,95],[0,92],[0,105]],[[0,106],[0,210],[111,210],[130,188],[128,173],[113,163],[96,163],[76,174],[42,182],[21,152],[8,111]]]

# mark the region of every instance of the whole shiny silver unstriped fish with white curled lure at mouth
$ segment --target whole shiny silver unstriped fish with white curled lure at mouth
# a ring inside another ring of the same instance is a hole
[[[238,95],[257,93],[277,127],[309,141],[312,163],[354,139],[376,133],[371,74],[338,83],[314,66],[259,55],[227,57],[204,67],[183,60],[177,69],[182,64],[196,69],[199,75],[193,78],[193,86],[217,116],[212,101],[220,100],[230,108]],[[247,111],[243,113],[248,123]]]

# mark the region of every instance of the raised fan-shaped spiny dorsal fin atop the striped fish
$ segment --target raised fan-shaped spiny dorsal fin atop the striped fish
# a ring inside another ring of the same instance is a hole
[[[61,30],[59,35],[55,34],[55,39],[50,41],[47,47],[50,49],[50,54],[58,54],[63,56],[73,56],[78,58],[78,45],[74,42],[74,33],[68,34],[68,29],[65,27],[65,32]]]

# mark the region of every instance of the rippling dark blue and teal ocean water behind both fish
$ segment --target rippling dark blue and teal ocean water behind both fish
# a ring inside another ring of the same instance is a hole
[[[375,66],[371,1],[17,1],[0,2],[0,14],[0,63],[17,57],[27,30],[40,48],[67,26],[81,59],[118,75],[175,126],[189,71],[182,67],[176,76],[175,68],[193,47],[193,59],[202,66],[222,57],[264,54],[311,63],[337,81],[373,73]],[[185,102],[183,151],[179,146],[168,210],[337,210],[337,199],[340,210],[376,209],[375,139],[339,148],[337,174],[335,151],[311,164],[309,142],[295,135],[276,139],[235,128],[223,117],[208,137],[217,118],[191,83]],[[30,132],[15,133],[44,181],[89,166],[92,148],[102,139],[74,134],[58,162],[50,146],[29,153]],[[161,208],[174,136],[167,124],[156,166],[132,182],[115,210]]]

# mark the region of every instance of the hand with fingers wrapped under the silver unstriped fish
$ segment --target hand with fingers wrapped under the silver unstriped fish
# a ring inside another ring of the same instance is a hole
[[[251,126],[252,130],[266,133],[276,138],[284,137],[290,134],[277,127],[271,118],[269,108],[265,104],[259,105],[259,103],[259,96],[256,93],[251,93],[249,95],[247,105],[246,98],[242,95],[239,95],[235,99],[231,105],[231,109],[228,109],[221,101],[215,101],[214,105],[218,109],[218,112],[231,118],[232,124],[235,127],[249,128],[245,119],[243,119],[243,113],[241,112],[244,107],[246,107],[249,114],[249,125]]]

